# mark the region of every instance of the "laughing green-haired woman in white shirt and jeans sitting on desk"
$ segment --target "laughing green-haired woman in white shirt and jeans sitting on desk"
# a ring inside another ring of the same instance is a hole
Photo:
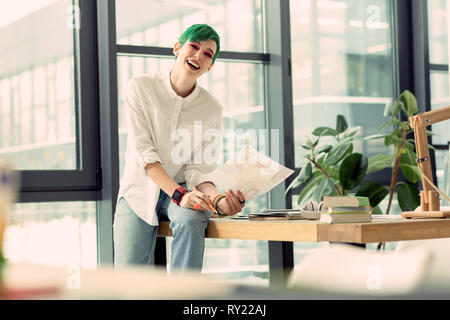
[[[114,216],[116,267],[152,263],[158,219],[168,218],[173,231],[171,270],[201,270],[211,206],[233,215],[245,205],[240,191],[220,194],[207,181],[214,164],[173,159],[177,130],[194,136],[194,122],[199,121],[206,129],[222,127],[222,106],[197,85],[219,51],[217,32],[205,24],[193,25],[174,46],[176,60],[169,74],[136,76],[128,83],[125,169]],[[209,143],[202,139],[190,150],[190,159]]]

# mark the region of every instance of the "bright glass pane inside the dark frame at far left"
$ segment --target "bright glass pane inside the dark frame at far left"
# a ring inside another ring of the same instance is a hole
[[[0,10],[0,152],[18,169],[77,167],[71,6],[17,1]]]

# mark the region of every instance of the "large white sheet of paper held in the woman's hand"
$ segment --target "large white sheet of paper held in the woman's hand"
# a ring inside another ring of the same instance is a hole
[[[229,161],[208,175],[219,189],[240,190],[245,199],[255,199],[289,177],[294,170],[273,161],[250,146],[245,146]]]

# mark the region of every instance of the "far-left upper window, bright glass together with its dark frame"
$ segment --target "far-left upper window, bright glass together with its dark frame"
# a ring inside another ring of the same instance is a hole
[[[23,171],[23,197],[97,187],[89,6],[84,0],[0,4],[0,160]]]

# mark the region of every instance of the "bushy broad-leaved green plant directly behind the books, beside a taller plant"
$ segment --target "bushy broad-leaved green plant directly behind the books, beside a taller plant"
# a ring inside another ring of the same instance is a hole
[[[354,136],[360,127],[349,128],[345,117],[337,115],[336,127],[318,127],[313,137],[308,137],[302,148],[306,149],[307,163],[286,189],[303,187],[299,193],[298,205],[306,200],[321,201],[324,195],[367,196],[375,213],[380,213],[378,204],[389,193],[386,187],[374,181],[364,181],[367,173],[383,169],[376,157],[353,152]],[[320,144],[321,138],[333,138],[332,144]]]

